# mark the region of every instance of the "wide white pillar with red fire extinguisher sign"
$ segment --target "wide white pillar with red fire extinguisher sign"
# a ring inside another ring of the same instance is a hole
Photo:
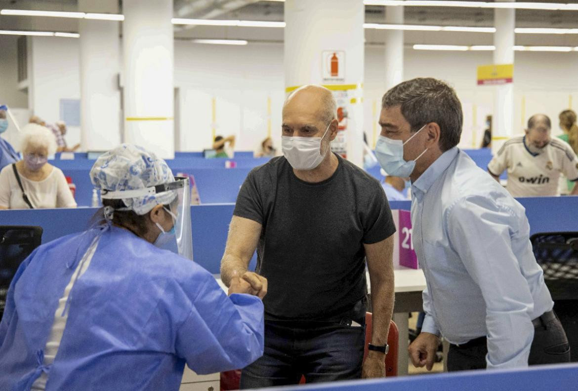
[[[363,166],[363,106],[365,7],[351,0],[286,0],[285,86],[322,84],[334,91],[338,107],[347,111],[347,159]],[[327,54],[329,53],[328,57]],[[338,75],[331,75],[331,57],[339,60]],[[326,57],[324,57],[324,54]],[[344,56],[344,58],[342,57]],[[328,73],[324,75],[324,72]],[[338,141],[339,142],[339,141]],[[339,146],[338,143],[332,145]]]

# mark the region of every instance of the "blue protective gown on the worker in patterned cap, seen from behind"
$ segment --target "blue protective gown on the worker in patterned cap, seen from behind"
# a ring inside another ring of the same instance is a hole
[[[43,349],[54,311],[97,234],[69,295],[54,363]],[[213,275],[131,232],[96,228],[37,248],[18,269],[0,323],[0,390],[177,390],[185,362],[199,374],[242,368],[263,353],[263,304],[227,297]]]

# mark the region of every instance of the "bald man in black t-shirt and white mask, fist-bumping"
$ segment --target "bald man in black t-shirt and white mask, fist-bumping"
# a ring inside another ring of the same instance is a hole
[[[394,301],[390,207],[379,181],[331,152],[338,132],[327,88],[283,106],[282,157],[249,173],[231,220],[221,278],[242,275],[264,297],[265,353],[242,389],[383,377]],[[255,272],[247,271],[257,250]],[[373,333],[362,364],[369,267]]]

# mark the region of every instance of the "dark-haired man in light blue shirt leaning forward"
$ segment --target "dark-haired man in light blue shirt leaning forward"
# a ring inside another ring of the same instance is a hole
[[[450,371],[568,362],[524,207],[456,147],[463,117],[454,90],[409,80],[382,107],[376,156],[412,180],[413,245],[427,282],[414,366],[431,370],[440,336]]]

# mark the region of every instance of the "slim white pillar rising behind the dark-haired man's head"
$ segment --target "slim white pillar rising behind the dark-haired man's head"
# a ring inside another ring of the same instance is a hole
[[[403,24],[403,6],[386,7],[387,24]],[[403,81],[403,30],[384,30],[386,33],[386,88]]]

